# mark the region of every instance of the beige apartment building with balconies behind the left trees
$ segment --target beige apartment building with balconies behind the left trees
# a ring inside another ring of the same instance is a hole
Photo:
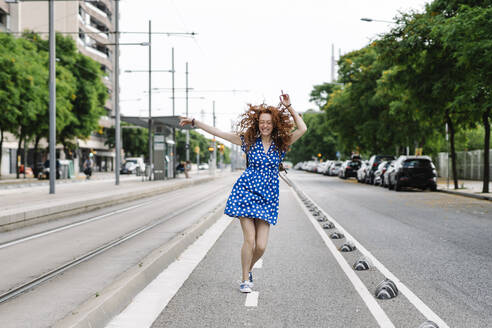
[[[47,37],[48,9],[47,1],[6,3],[5,0],[0,0],[0,31],[18,33],[33,30]],[[110,96],[105,104],[107,115],[100,118],[99,125],[101,127],[113,126],[114,120],[111,117],[114,116],[114,46],[108,44],[115,42],[114,34],[111,33],[114,31],[114,1],[55,1],[54,11],[55,30],[71,36],[82,54],[101,64],[101,69],[106,75],[103,82]],[[17,156],[17,141],[11,135],[6,137],[4,157],[7,156],[8,159],[2,160],[2,173],[4,174],[15,172],[15,156]],[[46,141],[44,142],[45,145],[41,147],[47,146]],[[93,152],[97,170],[113,170],[114,149],[110,149],[104,142],[105,138],[98,132],[94,132],[88,140],[78,140],[80,151],[74,158],[75,169],[80,169],[83,159],[89,152]]]

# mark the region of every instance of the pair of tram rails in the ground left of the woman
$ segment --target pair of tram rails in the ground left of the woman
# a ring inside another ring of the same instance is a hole
[[[221,186],[220,188],[216,188],[214,190],[207,191],[206,194],[208,196],[201,197],[201,199],[198,201],[193,201],[191,203],[191,205],[189,205],[189,206],[184,206],[184,207],[182,207],[178,210],[175,210],[175,211],[173,211],[173,212],[171,212],[171,213],[169,213],[163,217],[155,219],[155,220],[153,220],[147,224],[144,224],[143,226],[141,226],[137,229],[133,229],[132,231],[130,231],[130,232],[128,232],[122,236],[114,238],[114,239],[110,240],[109,242],[104,243],[104,244],[84,253],[83,255],[77,256],[77,257],[73,258],[72,260],[69,260],[69,261],[63,263],[62,265],[59,265],[52,270],[49,270],[48,272],[45,272],[41,275],[38,275],[34,279],[31,279],[27,282],[21,283],[21,284],[17,285],[16,287],[9,289],[7,292],[0,294],[0,304],[5,303],[5,302],[21,295],[21,294],[25,294],[25,293],[29,292],[30,290],[33,290],[37,286],[41,285],[42,283],[44,283],[48,280],[51,280],[57,276],[60,276],[61,274],[63,274],[67,270],[69,270],[75,266],[78,266],[84,262],[87,262],[91,258],[93,258],[93,257],[95,257],[101,253],[104,253],[104,252],[106,252],[106,251],[126,242],[126,241],[134,239],[135,237],[137,237],[137,236],[139,236],[139,235],[141,235],[141,234],[167,222],[168,220],[170,220],[172,218],[175,218],[179,215],[185,214],[186,212],[189,212],[189,211],[192,211],[192,210],[198,208],[199,206],[203,205],[204,203],[209,202],[211,199],[216,198],[217,193],[220,193],[224,188],[225,188],[225,186]],[[130,211],[132,209],[136,209],[136,208],[142,207],[144,205],[148,205],[152,202],[155,202],[156,200],[158,200],[158,198],[153,199],[153,200],[147,200],[145,202],[142,202],[142,203],[139,203],[136,205],[132,205],[132,206],[125,207],[122,209],[114,210],[114,211],[111,211],[111,212],[108,212],[108,213],[105,213],[102,215],[90,217],[90,218],[87,218],[87,219],[84,219],[84,220],[81,220],[78,222],[74,222],[71,224],[67,224],[67,225],[64,225],[61,227],[57,227],[54,229],[49,229],[49,230],[42,231],[39,233],[31,234],[29,236],[25,236],[25,237],[16,238],[16,239],[13,239],[10,241],[6,241],[6,242],[0,244],[0,249],[7,248],[10,246],[19,244],[19,243],[27,242],[29,240],[41,238],[41,237],[44,237],[46,235],[53,234],[56,232],[61,232],[61,231],[64,231],[64,230],[67,230],[70,228],[74,228],[74,227],[77,227],[77,226],[80,226],[83,224],[94,222],[96,220],[100,220],[100,219],[103,219],[106,217],[120,214],[122,212],[127,212],[127,211]]]

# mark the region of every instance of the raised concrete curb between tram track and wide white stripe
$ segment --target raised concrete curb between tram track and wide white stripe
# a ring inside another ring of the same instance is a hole
[[[223,215],[224,208],[224,205],[216,207],[211,214],[186,228],[165,245],[153,250],[140,264],[128,269],[104,288],[99,296],[92,296],[79,305],[53,328],[105,327],[141,290],[211,227]]]

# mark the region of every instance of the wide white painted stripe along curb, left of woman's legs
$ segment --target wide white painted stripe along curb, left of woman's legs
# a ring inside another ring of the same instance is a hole
[[[150,327],[232,221],[230,217],[222,216],[106,327]]]

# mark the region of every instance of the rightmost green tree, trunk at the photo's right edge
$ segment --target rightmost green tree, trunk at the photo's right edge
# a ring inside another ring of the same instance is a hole
[[[440,2],[440,1],[439,1]],[[490,119],[492,117],[492,7],[491,1],[473,1],[476,7],[446,7],[451,18],[442,19],[433,29],[446,50],[453,54],[456,68],[464,72],[456,81],[453,106],[470,108],[474,120],[484,128],[482,192],[489,192]],[[487,3],[489,7],[480,5]],[[433,7],[437,6],[438,2]],[[438,7],[439,8],[439,7]]]

